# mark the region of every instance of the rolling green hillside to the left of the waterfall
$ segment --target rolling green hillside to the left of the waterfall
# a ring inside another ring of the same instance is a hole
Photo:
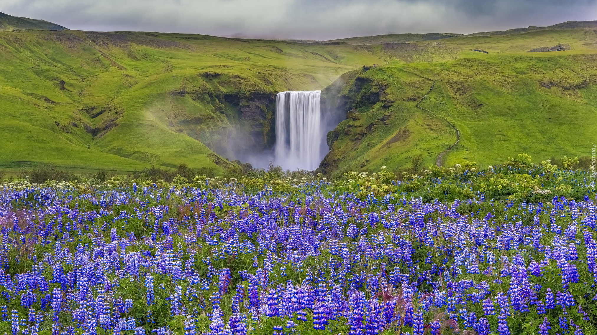
[[[276,92],[324,88],[383,56],[201,35],[0,33],[0,165],[227,168],[213,150],[272,144]]]

